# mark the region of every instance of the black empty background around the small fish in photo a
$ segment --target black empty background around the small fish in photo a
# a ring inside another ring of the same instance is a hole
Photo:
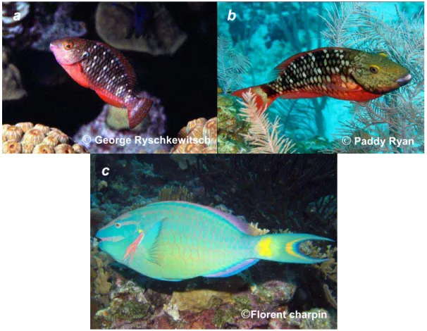
[[[46,4],[55,6],[54,4]],[[85,39],[99,40],[94,15],[97,3],[75,3],[73,19],[86,23]],[[167,117],[166,135],[176,137],[194,118],[216,116],[216,4],[204,3],[190,13],[186,3],[165,3],[187,40],[173,56],[121,51],[132,63],[142,90],[161,99]],[[50,51],[12,49],[27,96],[3,101],[3,123],[42,123],[74,135],[101,113],[104,101],[78,85]],[[56,80],[58,84],[43,82]]]

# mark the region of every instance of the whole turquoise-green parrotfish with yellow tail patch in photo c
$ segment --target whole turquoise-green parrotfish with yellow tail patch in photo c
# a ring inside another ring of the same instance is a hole
[[[260,259],[319,263],[299,250],[315,235],[254,235],[254,227],[214,208],[181,201],[149,204],[101,228],[99,248],[116,261],[158,280],[228,277]]]

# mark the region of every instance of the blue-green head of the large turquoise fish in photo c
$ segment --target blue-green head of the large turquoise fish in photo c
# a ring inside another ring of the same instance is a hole
[[[102,251],[116,261],[123,261],[128,247],[140,235],[144,235],[140,223],[133,216],[124,214],[102,227],[95,237],[100,240],[98,246]]]

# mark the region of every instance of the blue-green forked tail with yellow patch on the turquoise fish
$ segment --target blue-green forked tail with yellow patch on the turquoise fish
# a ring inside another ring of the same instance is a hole
[[[299,233],[280,233],[275,235],[262,235],[256,239],[256,258],[285,263],[321,263],[328,258],[311,258],[302,252],[302,243],[307,240],[333,240],[315,235]]]

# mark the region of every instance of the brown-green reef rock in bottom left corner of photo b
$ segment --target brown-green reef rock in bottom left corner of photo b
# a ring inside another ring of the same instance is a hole
[[[231,96],[218,95],[218,153],[235,154],[249,151],[243,135],[247,135],[250,124],[237,111],[240,104]]]

